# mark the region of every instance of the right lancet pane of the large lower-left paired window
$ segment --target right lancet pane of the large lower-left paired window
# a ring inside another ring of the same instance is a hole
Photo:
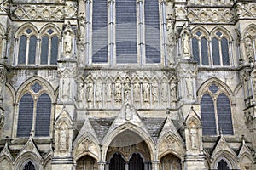
[[[48,94],[42,94],[37,103],[35,136],[49,136],[51,100]]]

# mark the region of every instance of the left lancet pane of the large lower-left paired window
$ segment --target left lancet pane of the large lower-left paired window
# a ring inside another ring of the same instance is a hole
[[[34,101],[30,94],[20,99],[17,137],[28,137],[32,130]]]

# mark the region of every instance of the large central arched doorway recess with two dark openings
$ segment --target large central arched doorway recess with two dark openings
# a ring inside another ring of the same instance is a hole
[[[108,147],[109,170],[150,169],[151,156],[146,142],[130,130],[117,135]]]

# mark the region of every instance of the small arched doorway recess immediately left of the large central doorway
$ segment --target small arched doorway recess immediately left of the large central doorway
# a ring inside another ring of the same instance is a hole
[[[98,170],[97,161],[91,156],[83,156],[77,161],[77,170]]]

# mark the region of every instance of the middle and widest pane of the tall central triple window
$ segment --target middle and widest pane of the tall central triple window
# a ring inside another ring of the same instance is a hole
[[[137,2],[116,1],[117,63],[137,63]]]

